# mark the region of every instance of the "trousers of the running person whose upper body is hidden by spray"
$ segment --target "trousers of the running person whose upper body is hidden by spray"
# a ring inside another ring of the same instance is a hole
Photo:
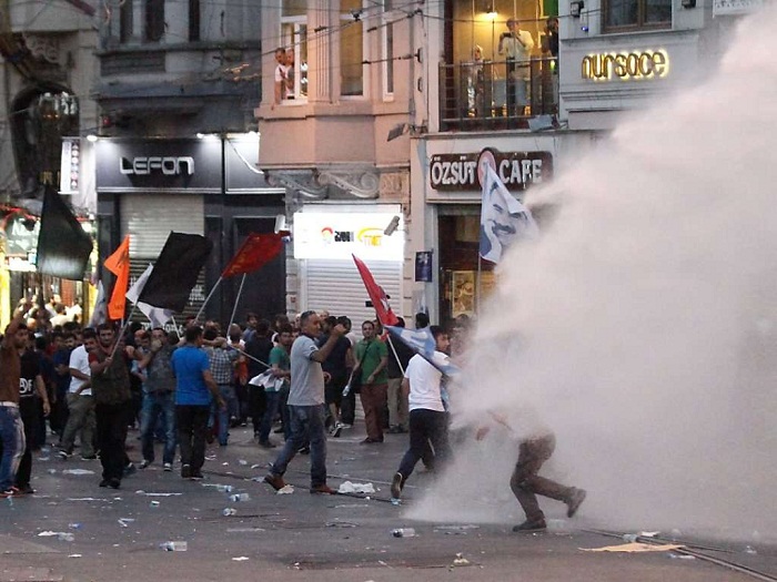
[[[547,461],[556,448],[553,435],[538,439],[525,440],[521,443],[518,461],[515,463],[509,488],[521,503],[528,521],[542,521],[545,514],[539,509],[537,496],[548,497],[558,501],[568,501],[574,488],[565,487],[544,477],[539,477],[541,467]]]

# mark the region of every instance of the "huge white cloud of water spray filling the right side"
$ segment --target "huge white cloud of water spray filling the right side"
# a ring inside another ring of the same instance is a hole
[[[533,191],[557,216],[500,266],[455,423],[535,412],[581,525],[777,538],[776,27],[750,18],[713,79]],[[456,453],[411,515],[522,520],[507,435]]]

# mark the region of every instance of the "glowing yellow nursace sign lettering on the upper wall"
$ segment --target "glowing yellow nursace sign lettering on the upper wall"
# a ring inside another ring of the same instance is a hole
[[[581,74],[589,81],[663,79],[669,74],[669,54],[664,49],[588,54]]]

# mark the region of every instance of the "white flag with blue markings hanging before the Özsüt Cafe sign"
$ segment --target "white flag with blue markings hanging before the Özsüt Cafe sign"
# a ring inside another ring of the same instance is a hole
[[[528,208],[513,197],[494,169],[485,165],[481,207],[481,256],[492,263],[498,263],[507,247],[517,238],[533,238],[537,232],[537,223]]]

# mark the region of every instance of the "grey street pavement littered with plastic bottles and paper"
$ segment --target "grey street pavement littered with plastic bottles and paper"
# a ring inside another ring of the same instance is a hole
[[[139,461],[137,435],[130,432],[128,443]],[[507,518],[501,524],[413,521],[407,512],[434,476],[417,472],[403,504],[391,504],[389,479],[407,436],[360,446],[361,425],[329,440],[330,486],[373,483],[374,494],[310,494],[305,456],[297,456],[286,473],[294,492],[276,494],[259,481],[276,450],[260,449],[252,435],[250,428],[233,429],[228,447],[210,446],[204,481],[182,480],[178,464],[176,471],[163,472],[158,461],[117,491],[98,487],[99,461],[78,456],[61,461],[53,449],[36,453],[38,493],[0,501],[0,582],[753,580],[672,552],[582,551],[625,543],[576,529],[585,520],[556,520],[551,531],[537,534],[513,533],[514,520]],[[64,472],[72,470],[75,474]],[[239,493],[249,499],[230,498]],[[234,514],[224,515],[225,509]],[[413,528],[415,535],[395,538],[397,528]],[[41,535],[49,532],[54,534]],[[165,551],[167,542],[185,542],[186,550]],[[757,553],[743,548],[731,542],[715,555],[777,576],[777,548],[758,547]]]

